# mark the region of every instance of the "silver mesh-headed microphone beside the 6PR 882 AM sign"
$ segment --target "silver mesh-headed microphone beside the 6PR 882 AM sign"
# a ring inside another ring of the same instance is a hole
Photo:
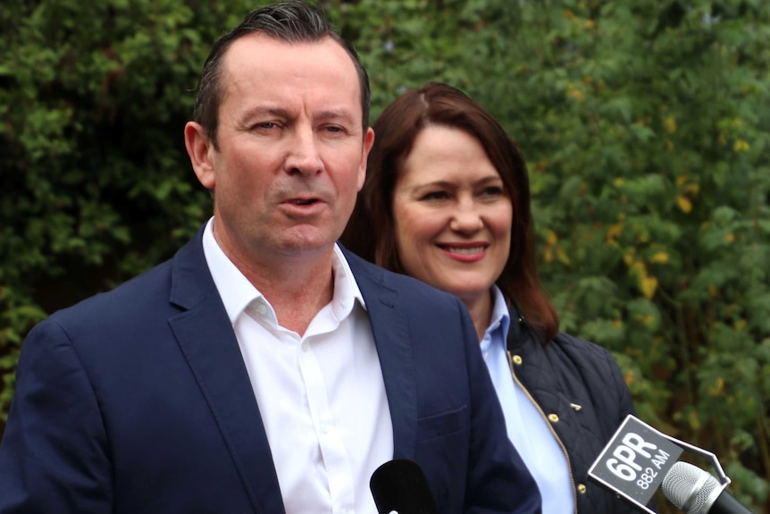
[[[751,514],[724,487],[707,471],[688,462],[676,462],[660,490],[685,514]]]

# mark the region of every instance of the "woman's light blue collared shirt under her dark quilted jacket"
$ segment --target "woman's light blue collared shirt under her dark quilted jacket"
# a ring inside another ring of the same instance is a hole
[[[565,453],[551,432],[545,415],[511,374],[506,336],[508,330],[518,331],[519,325],[511,324],[502,291],[492,286],[492,293],[492,318],[481,340],[481,353],[506,416],[508,439],[514,443],[540,489],[543,514],[574,512],[573,485]],[[523,365],[526,366],[526,363]]]

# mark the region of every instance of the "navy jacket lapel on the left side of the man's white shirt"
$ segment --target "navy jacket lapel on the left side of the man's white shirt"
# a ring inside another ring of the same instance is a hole
[[[202,231],[172,260],[169,323],[216,419],[257,512],[283,513],[267,435],[246,365],[205,263]]]

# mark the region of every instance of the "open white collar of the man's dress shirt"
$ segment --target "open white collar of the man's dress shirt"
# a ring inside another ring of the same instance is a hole
[[[222,304],[230,318],[230,324],[235,324],[236,319],[255,299],[263,298],[263,294],[248,281],[236,265],[232,263],[213,237],[213,216],[205,225],[203,232],[203,249],[205,261],[211,272],[214,285],[222,298]],[[331,310],[334,316],[344,318],[353,310],[355,302],[365,309],[364,296],[358,289],[358,284],[347,264],[347,259],[334,245],[334,257],[331,262],[334,276],[334,296],[331,299]],[[267,299],[264,299],[265,303]]]

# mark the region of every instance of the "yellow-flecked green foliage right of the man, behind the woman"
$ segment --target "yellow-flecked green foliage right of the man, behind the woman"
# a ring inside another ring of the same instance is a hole
[[[562,328],[613,350],[640,415],[715,451],[766,509],[770,12],[395,4],[340,5],[375,98],[446,80],[498,117],[530,164]]]

